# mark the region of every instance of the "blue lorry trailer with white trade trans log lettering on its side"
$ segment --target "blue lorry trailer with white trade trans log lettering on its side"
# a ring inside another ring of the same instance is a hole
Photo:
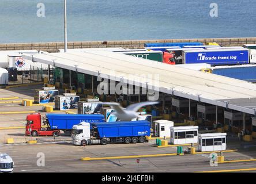
[[[212,65],[248,64],[249,51],[184,51],[183,64],[207,63]]]

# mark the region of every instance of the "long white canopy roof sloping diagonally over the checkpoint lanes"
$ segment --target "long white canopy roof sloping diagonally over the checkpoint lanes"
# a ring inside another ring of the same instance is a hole
[[[31,55],[25,54],[23,57],[32,59]],[[113,79],[114,71],[115,81],[125,80],[128,75],[144,74],[146,76],[138,78],[140,86],[145,86],[145,83],[148,82],[149,88],[150,86],[159,87],[159,91],[163,93],[217,106],[228,106],[229,109],[255,114],[252,108],[231,103],[227,104],[227,102],[221,101],[221,99],[256,98],[256,85],[238,79],[194,71],[110,51],[40,53],[33,55],[33,60],[50,65],[55,64],[55,67],[73,71],[76,71],[77,65],[78,72],[95,76],[105,74],[108,79]],[[150,81],[148,74],[159,75],[159,83]]]

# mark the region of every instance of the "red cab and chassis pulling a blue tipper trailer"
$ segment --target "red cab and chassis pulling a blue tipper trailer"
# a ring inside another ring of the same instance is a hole
[[[48,121],[44,121],[47,125],[46,128],[42,128],[42,120],[41,114],[29,114],[27,116],[27,124],[26,124],[26,136],[59,136],[61,132],[59,130],[51,130]],[[29,128],[31,129],[29,131]]]

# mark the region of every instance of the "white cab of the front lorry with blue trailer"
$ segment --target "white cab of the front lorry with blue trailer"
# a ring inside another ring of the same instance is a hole
[[[72,127],[72,143],[74,145],[86,145],[91,139],[91,130],[89,122],[80,122],[78,125]]]

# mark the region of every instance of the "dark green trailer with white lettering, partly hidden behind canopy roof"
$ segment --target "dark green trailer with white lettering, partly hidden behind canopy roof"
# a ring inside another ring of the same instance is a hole
[[[157,62],[163,62],[163,52],[161,51],[129,51],[129,52],[119,52],[126,55],[139,57],[143,59],[154,60]]]

